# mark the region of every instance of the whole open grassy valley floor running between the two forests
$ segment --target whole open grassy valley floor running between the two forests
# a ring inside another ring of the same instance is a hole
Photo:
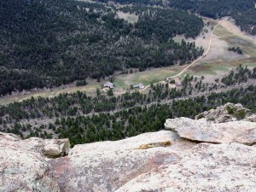
[[[220,21],[208,18],[204,18],[204,20],[205,22],[210,22],[210,26],[205,26],[205,30],[208,32],[201,32],[201,35],[198,38],[186,39],[186,41],[195,41],[196,46],[202,46],[207,50],[211,38],[212,26],[216,26]],[[183,36],[174,38],[177,42],[182,39]],[[242,49],[244,55],[238,55],[235,52],[228,50],[230,47],[237,46]],[[209,79],[220,79],[224,74],[228,73],[230,69],[236,68],[240,64],[242,64],[242,66],[256,67],[256,37],[243,34],[240,28],[237,27],[232,20],[227,20],[227,18],[225,18],[212,33],[212,44],[207,56],[196,62],[195,65],[189,67],[181,77],[185,74],[193,74],[194,76],[205,76]],[[113,81],[116,87],[114,93],[117,95],[124,93],[125,89],[131,87],[131,84],[143,83],[147,86],[151,83],[158,83],[168,77],[177,75],[183,71],[185,67],[187,66],[162,67],[146,70],[144,72],[121,74],[116,76]],[[96,88],[100,88],[102,84],[103,81],[98,83],[94,80],[89,82],[89,84],[80,87],[76,87],[75,84],[69,84],[52,90],[26,91],[12,96],[4,96],[0,99],[0,105],[15,101],[19,102],[31,96],[53,97],[61,93],[76,92],[77,90],[84,91],[88,95],[93,96],[96,94]]]

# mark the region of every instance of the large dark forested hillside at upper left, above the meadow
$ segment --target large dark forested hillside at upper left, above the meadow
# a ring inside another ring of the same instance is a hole
[[[0,1],[0,96],[100,79],[125,68],[184,64],[202,54],[195,38],[203,22],[171,9],[140,9],[136,24],[119,19],[114,6],[72,0]]]

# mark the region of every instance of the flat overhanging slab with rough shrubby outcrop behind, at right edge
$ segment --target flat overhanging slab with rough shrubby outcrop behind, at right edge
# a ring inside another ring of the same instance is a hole
[[[256,143],[255,114],[241,104],[224,106],[200,113],[194,119],[166,119],[167,130],[179,137],[205,143]]]

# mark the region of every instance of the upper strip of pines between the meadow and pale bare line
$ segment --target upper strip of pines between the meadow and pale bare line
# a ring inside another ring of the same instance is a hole
[[[253,70],[248,70],[247,67],[237,67],[235,72],[231,71],[227,77],[224,77],[223,81],[225,83],[233,81],[242,82],[244,78],[241,77],[244,75],[248,79],[253,78],[253,74],[256,73],[256,67]],[[61,94],[53,98],[38,97],[35,99],[32,97],[23,102],[14,102],[7,106],[0,106],[0,120],[1,122],[14,123],[15,120],[20,119],[57,118],[67,115],[75,116],[94,112],[109,112],[119,108],[132,108],[150,102],[189,96],[193,89],[198,91],[217,89],[216,84],[207,86],[207,84],[202,83],[202,80],[196,82],[195,88],[193,88],[191,87],[193,79],[193,76],[187,75],[183,79],[182,87],[179,90],[170,89],[168,84],[151,84],[148,94],[136,91],[125,93],[121,96],[113,96],[113,90],[109,90],[106,96],[101,93],[100,89],[97,89],[95,97],[87,96],[80,91],[73,94]],[[250,87],[247,89],[250,89]]]

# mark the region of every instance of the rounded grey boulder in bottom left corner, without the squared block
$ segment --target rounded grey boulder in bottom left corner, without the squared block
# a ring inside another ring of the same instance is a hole
[[[2,146],[0,191],[58,192],[60,188],[52,167],[40,154]]]

